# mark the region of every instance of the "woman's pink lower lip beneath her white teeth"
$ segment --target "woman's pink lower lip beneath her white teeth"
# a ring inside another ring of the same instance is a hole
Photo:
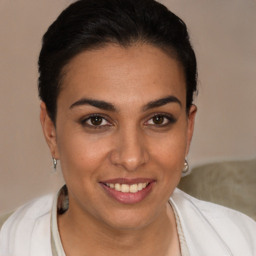
[[[104,188],[104,190],[107,192],[108,195],[110,195],[112,198],[114,198],[118,202],[138,203],[142,201],[150,193],[152,186],[154,184],[154,181],[149,182],[149,184],[145,188],[135,193],[131,193],[131,192],[125,193],[125,192],[117,191],[114,188],[110,188],[103,183],[99,183],[99,184]]]

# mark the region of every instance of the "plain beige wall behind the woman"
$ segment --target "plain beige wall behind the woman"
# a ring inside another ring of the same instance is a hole
[[[199,73],[190,166],[256,156],[256,1],[161,0],[188,26]],[[0,0],[0,213],[63,184],[39,123],[40,39],[71,0]]]

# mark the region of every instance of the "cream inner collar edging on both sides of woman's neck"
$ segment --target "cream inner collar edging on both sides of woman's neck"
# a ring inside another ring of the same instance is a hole
[[[58,193],[54,197],[52,210],[51,210],[50,230],[51,230],[51,250],[52,250],[53,256],[65,256],[65,252],[61,244],[61,240],[58,232],[58,225],[57,225],[57,209],[58,209],[57,206],[64,204],[63,202],[59,201],[59,198],[60,198],[59,194],[63,192],[62,189],[63,187],[58,191]],[[176,209],[170,200],[168,201],[168,203],[174,212],[174,216],[176,220],[176,227],[177,227],[178,239],[180,244],[181,256],[190,256]]]

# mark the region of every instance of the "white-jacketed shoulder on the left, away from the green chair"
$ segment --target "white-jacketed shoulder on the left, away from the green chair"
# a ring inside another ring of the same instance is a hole
[[[18,208],[0,230],[0,255],[18,255],[50,246],[50,216],[53,195],[45,195]],[[45,251],[43,249],[42,251]]]

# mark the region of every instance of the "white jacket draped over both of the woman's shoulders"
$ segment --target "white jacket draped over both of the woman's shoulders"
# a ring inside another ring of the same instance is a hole
[[[170,197],[191,256],[255,256],[256,222],[248,216],[175,189]],[[0,231],[0,256],[51,256],[53,196],[17,209]],[[159,255],[161,256],[161,255]]]

